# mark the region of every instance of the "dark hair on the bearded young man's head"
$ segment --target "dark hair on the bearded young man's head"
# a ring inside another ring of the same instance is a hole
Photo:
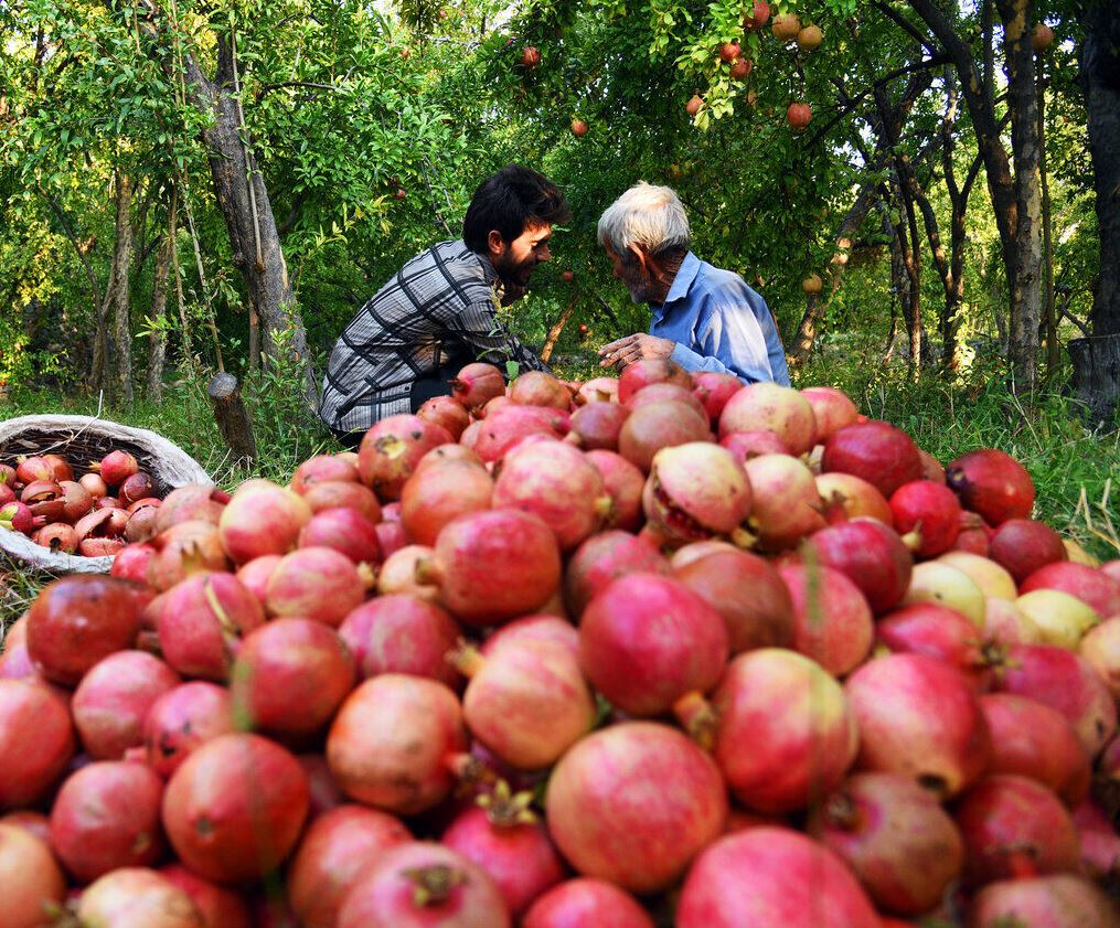
[[[529,225],[556,225],[571,218],[563,194],[544,175],[521,165],[507,165],[475,190],[463,219],[463,241],[479,254],[497,229],[508,243]]]

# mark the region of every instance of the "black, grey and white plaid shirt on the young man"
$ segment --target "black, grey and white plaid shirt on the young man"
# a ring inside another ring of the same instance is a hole
[[[473,355],[523,369],[548,367],[498,321],[502,283],[489,261],[459,240],[409,261],[335,343],[319,416],[342,432],[411,410],[412,384],[448,355]]]

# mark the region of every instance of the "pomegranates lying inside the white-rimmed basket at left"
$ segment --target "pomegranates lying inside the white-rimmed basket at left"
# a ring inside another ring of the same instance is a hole
[[[152,476],[120,449],[84,465],[54,453],[0,463],[0,529],[58,554],[112,556],[147,541],[161,503]]]

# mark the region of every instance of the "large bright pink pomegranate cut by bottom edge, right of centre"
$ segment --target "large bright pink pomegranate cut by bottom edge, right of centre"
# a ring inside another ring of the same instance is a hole
[[[823,845],[788,828],[727,835],[684,880],[678,928],[880,928],[851,871]]]

